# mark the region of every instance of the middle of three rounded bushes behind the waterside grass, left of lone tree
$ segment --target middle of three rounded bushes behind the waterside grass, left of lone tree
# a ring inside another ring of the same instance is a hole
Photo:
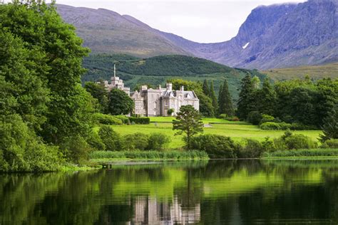
[[[137,132],[123,137],[124,149],[128,151],[145,150],[148,147],[149,135]]]

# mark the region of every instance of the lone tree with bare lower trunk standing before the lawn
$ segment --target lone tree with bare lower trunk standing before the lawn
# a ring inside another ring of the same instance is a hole
[[[183,105],[180,108],[180,112],[176,116],[176,120],[173,120],[173,130],[178,130],[175,135],[182,135],[185,133],[185,143],[187,149],[190,150],[191,137],[203,132],[203,122],[201,120],[200,113],[195,110],[191,105]]]

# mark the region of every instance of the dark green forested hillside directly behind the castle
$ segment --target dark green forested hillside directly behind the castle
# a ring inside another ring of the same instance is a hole
[[[152,58],[135,58],[128,55],[91,55],[83,61],[88,72],[83,75],[82,81],[108,80],[113,75],[113,66],[116,63],[117,75],[123,79],[131,89],[140,84],[164,85],[171,78],[201,81],[213,80],[218,92],[220,84],[226,78],[230,92],[237,99],[237,88],[240,80],[247,74],[265,78],[257,70],[230,68],[219,63],[190,56],[155,56]]]

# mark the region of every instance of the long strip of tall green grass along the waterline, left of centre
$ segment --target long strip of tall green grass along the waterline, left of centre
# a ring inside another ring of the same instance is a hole
[[[96,151],[89,155],[95,162],[106,162],[121,159],[151,159],[151,160],[190,160],[190,159],[209,159],[208,154],[203,151]]]

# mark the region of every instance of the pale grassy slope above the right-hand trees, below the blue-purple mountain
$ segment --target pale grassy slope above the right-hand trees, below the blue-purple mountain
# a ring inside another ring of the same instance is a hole
[[[280,68],[265,70],[262,73],[267,74],[272,80],[289,80],[295,78],[304,78],[309,75],[315,80],[321,78],[338,78],[338,63],[329,63],[322,66],[300,66],[295,68]]]

